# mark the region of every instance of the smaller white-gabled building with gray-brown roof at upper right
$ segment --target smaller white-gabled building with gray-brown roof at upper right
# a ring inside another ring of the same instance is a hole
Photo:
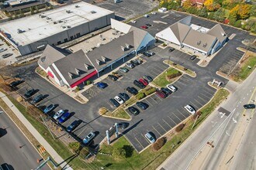
[[[157,32],[156,38],[174,43],[180,48],[189,48],[194,53],[209,56],[220,49],[227,42],[227,34],[220,24],[212,29],[191,24],[192,16],[189,15],[168,28]]]

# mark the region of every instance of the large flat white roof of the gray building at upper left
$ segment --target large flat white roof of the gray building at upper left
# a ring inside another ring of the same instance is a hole
[[[40,12],[36,15],[1,23],[0,28],[7,35],[9,34],[14,42],[18,42],[19,46],[24,46],[111,13],[114,12],[86,2],[78,2],[72,5],[54,8],[47,12]],[[40,16],[42,15],[45,17],[41,18]],[[57,24],[54,24],[54,22],[57,22]],[[65,26],[65,29],[62,26]],[[70,26],[70,28],[67,28],[67,26]],[[23,32],[18,33],[18,29]]]

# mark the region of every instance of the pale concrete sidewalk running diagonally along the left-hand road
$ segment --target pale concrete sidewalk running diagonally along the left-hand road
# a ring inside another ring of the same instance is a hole
[[[22,121],[28,131],[33,134],[34,138],[36,138],[40,145],[42,145],[43,148],[46,149],[46,151],[50,154],[51,158],[53,158],[54,161],[57,162],[57,164],[61,163],[61,168],[72,170],[72,168],[67,165],[67,162],[64,162],[64,159],[57,154],[54,148],[52,148],[50,144],[41,136],[41,134],[36,131],[36,128],[34,128],[32,124],[30,124],[30,122],[26,119],[26,117],[23,116],[23,114],[17,109],[17,107],[12,104],[12,101],[9,100],[9,98],[6,97],[5,94],[2,92],[0,92],[0,97],[5,102],[5,104],[7,104],[7,106],[12,110],[12,112],[16,114],[16,116],[19,118],[19,121]]]

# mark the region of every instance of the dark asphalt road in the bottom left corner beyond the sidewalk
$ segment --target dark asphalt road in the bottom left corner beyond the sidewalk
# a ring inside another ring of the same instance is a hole
[[[35,169],[41,156],[0,108],[0,165],[9,169]],[[50,169],[47,165],[42,169]]]

